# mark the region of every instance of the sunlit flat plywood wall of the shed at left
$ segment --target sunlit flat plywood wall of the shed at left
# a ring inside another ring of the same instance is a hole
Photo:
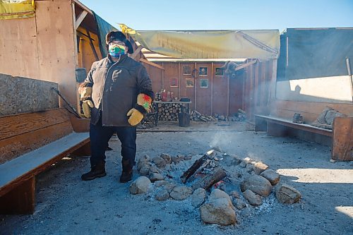
[[[0,20],[0,73],[59,84],[76,103],[71,0],[36,1],[35,18]]]

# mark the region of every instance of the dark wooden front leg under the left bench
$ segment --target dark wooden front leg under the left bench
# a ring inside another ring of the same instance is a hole
[[[0,198],[1,215],[28,215],[35,211],[35,176]]]

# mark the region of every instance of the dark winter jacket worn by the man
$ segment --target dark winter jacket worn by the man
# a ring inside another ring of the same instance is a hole
[[[96,124],[102,115],[103,126],[130,126],[128,110],[135,107],[138,94],[154,98],[145,67],[127,55],[114,63],[109,56],[95,61],[85,83],[92,85],[90,122]]]

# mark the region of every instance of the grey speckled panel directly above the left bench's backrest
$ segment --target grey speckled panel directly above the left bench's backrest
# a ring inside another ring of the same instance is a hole
[[[57,83],[0,73],[0,116],[59,108]]]

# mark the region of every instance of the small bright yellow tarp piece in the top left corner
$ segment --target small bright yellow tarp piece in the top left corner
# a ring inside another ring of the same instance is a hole
[[[0,20],[35,16],[33,0],[0,0]]]

